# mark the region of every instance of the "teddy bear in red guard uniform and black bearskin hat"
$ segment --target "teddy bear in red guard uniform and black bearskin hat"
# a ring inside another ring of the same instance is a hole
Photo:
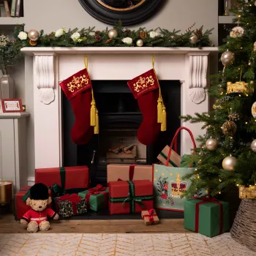
[[[31,206],[31,209],[20,219],[21,224],[27,225],[29,233],[36,233],[38,229],[48,231],[50,229],[48,217],[59,219],[59,215],[48,207],[51,202],[48,187],[45,184],[37,183],[30,188],[26,204]]]

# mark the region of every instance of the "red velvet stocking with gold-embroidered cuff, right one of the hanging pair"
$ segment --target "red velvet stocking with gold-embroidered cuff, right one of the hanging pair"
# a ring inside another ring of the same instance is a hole
[[[151,145],[157,140],[161,129],[161,124],[157,123],[159,84],[154,69],[129,80],[128,86],[135,99],[138,99],[138,105],[143,114],[143,122],[138,129],[138,140],[144,145]]]

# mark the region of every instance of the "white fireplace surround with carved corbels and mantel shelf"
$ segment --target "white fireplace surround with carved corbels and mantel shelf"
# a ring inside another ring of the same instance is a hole
[[[63,163],[61,89],[59,81],[84,68],[89,59],[91,80],[131,80],[152,68],[159,80],[181,82],[181,115],[208,111],[206,87],[210,53],[218,48],[22,48],[34,59],[34,143],[35,167],[59,167]],[[168,116],[171,118],[171,116]],[[181,122],[195,137],[200,124]],[[167,141],[166,143],[170,143]],[[189,135],[181,134],[181,154],[189,153]]]

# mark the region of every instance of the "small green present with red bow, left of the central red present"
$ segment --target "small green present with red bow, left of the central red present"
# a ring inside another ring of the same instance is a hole
[[[78,193],[80,197],[86,199],[86,206],[92,211],[99,211],[108,206],[108,188],[97,185],[93,189]]]

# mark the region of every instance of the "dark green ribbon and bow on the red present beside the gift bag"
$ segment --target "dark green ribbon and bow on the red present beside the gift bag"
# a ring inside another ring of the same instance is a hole
[[[129,184],[129,193],[128,197],[109,197],[110,203],[124,203],[129,202],[129,212],[130,214],[135,213],[135,203],[138,203],[141,207],[143,207],[143,200],[153,200],[153,195],[141,195],[135,196],[135,184],[132,181],[127,181]]]

